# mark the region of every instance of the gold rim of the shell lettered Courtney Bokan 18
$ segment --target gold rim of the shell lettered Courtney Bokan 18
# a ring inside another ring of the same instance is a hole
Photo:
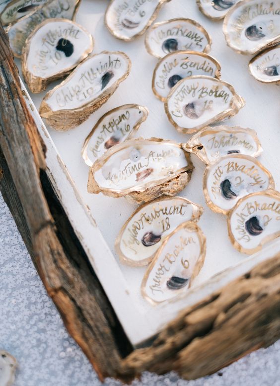
[[[171,118],[171,114],[169,113],[168,102],[169,102],[169,99],[173,96],[173,93],[176,91],[177,87],[180,86],[180,84],[182,84],[184,81],[186,81],[188,79],[198,79],[198,78],[209,79],[209,80],[212,80],[213,82],[223,83],[230,90],[230,92],[232,94],[232,98],[230,101],[229,108],[227,108],[226,110],[223,110],[221,113],[215,115],[215,119],[212,118],[212,119],[208,120],[207,122],[205,122],[199,126],[188,129],[188,128],[184,128],[184,127],[177,125],[177,123],[175,121],[173,121],[173,119]],[[245,103],[246,103],[245,99],[243,99],[242,96],[237,94],[237,92],[235,91],[235,88],[233,87],[232,84],[230,84],[224,80],[221,80],[221,79],[216,79],[214,77],[208,77],[206,75],[194,75],[194,76],[185,77],[185,78],[179,80],[175,84],[175,86],[173,88],[171,88],[171,90],[166,98],[166,101],[164,102],[164,111],[165,111],[165,114],[167,115],[169,122],[175,127],[175,129],[178,131],[178,133],[180,133],[180,134],[194,134],[194,133],[197,133],[200,130],[204,129],[205,127],[209,126],[210,124],[220,122],[220,121],[225,120],[226,118],[230,118],[230,117],[234,116],[235,114],[237,114],[239,112],[239,110],[242,109],[242,107],[245,106]]]

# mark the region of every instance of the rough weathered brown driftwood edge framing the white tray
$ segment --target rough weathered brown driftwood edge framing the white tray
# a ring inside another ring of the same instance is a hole
[[[280,337],[279,253],[182,311],[149,347],[133,351],[55,198],[1,27],[0,189],[49,295],[101,379],[128,382],[147,370],[194,379]]]

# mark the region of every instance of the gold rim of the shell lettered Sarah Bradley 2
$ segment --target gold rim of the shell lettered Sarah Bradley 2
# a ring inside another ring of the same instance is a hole
[[[231,244],[233,245],[233,247],[235,249],[238,250],[238,252],[241,252],[241,253],[246,253],[248,255],[251,255],[255,252],[258,252],[260,250],[262,250],[263,246],[267,243],[267,242],[270,242],[278,237],[280,237],[280,231],[278,232],[274,232],[272,234],[269,234],[268,236],[262,238],[261,242],[258,244],[258,246],[256,246],[255,248],[244,248],[241,246],[241,244],[239,244],[239,242],[236,240],[236,238],[234,237],[232,231],[231,231],[231,226],[230,226],[230,222],[231,222],[231,218],[232,218],[232,215],[233,215],[233,212],[240,206],[242,205],[242,203],[250,198],[250,197],[256,197],[256,196],[261,196],[261,195],[264,195],[264,196],[268,196],[270,198],[276,198],[278,200],[280,200],[280,192],[278,192],[277,190],[275,189],[266,189],[266,190],[262,190],[260,192],[253,192],[253,193],[250,193],[250,194],[247,194],[247,196],[244,196],[244,197],[241,197],[237,203],[234,205],[234,207],[228,212],[228,215],[227,215],[227,220],[226,220],[226,223],[227,223],[227,232],[228,232],[228,237],[230,239],[230,242]],[[275,234],[278,234],[278,235],[275,235]]]

